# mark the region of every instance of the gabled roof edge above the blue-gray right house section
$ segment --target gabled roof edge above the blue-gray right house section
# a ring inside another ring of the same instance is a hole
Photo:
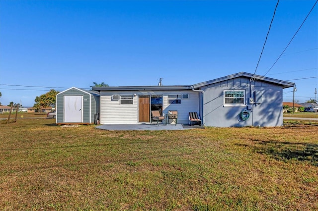
[[[283,86],[283,89],[289,88],[289,87],[293,87],[295,85],[295,83],[288,82],[288,81],[282,81],[282,80],[277,80],[277,79],[274,79],[274,78],[268,78],[268,77],[265,77],[265,76],[254,75],[254,74],[247,73],[247,72],[239,72],[239,73],[228,75],[228,76],[225,76],[225,77],[222,77],[222,78],[217,78],[217,79],[213,79],[213,80],[210,80],[210,81],[194,84],[193,87],[195,89],[197,89],[197,88],[200,88],[200,87],[203,87],[203,86],[207,86],[207,85],[210,85],[210,84],[214,84],[214,83],[218,83],[218,82],[222,82],[222,81],[226,81],[226,80],[230,80],[230,79],[234,79],[234,78],[239,78],[239,77],[246,77],[246,78],[249,78],[249,79],[253,78],[254,81],[265,81],[265,82],[268,82],[268,83],[281,85],[281,86]]]

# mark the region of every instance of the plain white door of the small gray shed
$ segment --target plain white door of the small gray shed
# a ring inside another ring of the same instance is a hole
[[[83,121],[83,96],[64,96],[64,122]]]

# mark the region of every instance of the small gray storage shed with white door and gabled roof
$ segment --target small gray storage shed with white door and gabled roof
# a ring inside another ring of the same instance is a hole
[[[97,124],[99,93],[72,87],[56,95],[57,124]]]

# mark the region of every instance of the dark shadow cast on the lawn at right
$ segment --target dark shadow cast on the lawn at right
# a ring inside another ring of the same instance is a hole
[[[256,153],[269,155],[277,160],[298,160],[318,166],[318,144],[260,141],[256,146],[236,144],[243,147],[251,147]]]

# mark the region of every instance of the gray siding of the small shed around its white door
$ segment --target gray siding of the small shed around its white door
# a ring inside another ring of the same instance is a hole
[[[83,96],[83,123],[94,123],[94,114],[99,112],[99,96],[72,88],[57,94],[57,123],[64,123],[64,96]],[[98,107],[97,107],[98,106]]]

